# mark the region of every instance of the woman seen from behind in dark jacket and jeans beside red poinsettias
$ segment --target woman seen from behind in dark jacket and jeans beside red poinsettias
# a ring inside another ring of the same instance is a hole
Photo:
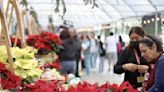
[[[76,61],[75,54],[77,51],[77,45],[68,29],[63,29],[60,33],[60,38],[63,41],[63,49],[59,52],[59,59],[61,64],[61,74],[75,74]]]

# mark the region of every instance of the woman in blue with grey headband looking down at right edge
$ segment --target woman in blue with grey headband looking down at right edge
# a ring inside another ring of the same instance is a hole
[[[141,55],[154,64],[150,67],[147,81],[148,92],[164,92],[164,55],[162,42],[152,36],[145,37],[140,41]]]

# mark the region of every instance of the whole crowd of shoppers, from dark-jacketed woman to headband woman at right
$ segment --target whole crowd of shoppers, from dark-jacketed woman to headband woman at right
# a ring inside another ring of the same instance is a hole
[[[102,39],[102,35],[93,31],[77,33],[74,28],[60,29],[59,36],[63,41],[63,48],[58,53],[60,73],[80,77],[83,71],[83,76],[90,76],[94,69],[103,73],[104,62],[108,62],[108,72],[125,73],[124,81],[133,88],[141,92],[164,92],[161,40],[146,34],[139,26],[129,30],[128,43],[120,35],[108,33]]]

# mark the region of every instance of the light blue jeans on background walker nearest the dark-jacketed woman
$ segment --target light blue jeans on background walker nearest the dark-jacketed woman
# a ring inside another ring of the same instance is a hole
[[[90,54],[85,54],[85,58],[84,58],[85,70],[88,76],[90,75],[90,72],[91,72],[90,56],[91,56]]]

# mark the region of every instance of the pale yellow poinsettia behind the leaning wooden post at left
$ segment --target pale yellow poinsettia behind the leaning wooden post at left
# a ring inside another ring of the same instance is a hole
[[[38,67],[38,61],[34,58],[35,50],[30,47],[18,48],[12,47],[11,53],[13,56],[14,74],[21,77],[23,80],[29,81],[29,78],[39,78],[42,70]],[[0,46],[0,62],[5,64],[9,69],[7,50],[5,46]]]

